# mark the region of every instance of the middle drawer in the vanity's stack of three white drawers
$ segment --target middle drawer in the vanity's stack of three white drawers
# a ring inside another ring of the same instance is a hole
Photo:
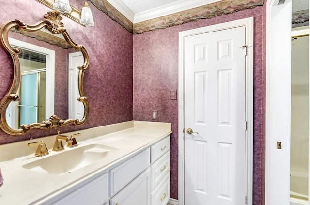
[[[170,151],[151,165],[151,190],[153,190],[164,176],[170,171]]]

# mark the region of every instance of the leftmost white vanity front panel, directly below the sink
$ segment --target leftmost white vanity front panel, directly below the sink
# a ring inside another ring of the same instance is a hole
[[[108,201],[108,173],[105,173],[53,205],[103,205]]]

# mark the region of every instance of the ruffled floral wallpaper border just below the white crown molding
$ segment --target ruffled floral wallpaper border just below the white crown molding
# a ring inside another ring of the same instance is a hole
[[[264,0],[222,0],[216,3],[189,9],[175,14],[154,18],[133,24],[107,0],[90,0],[95,7],[106,13],[114,21],[122,25],[128,32],[133,34],[165,29],[167,27],[196,21],[203,18],[230,14],[244,9],[251,9],[262,6]]]

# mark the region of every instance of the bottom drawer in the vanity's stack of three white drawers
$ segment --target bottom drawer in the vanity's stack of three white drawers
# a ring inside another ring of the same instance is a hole
[[[167,205],[170,199],[170,171],[151,194],[152,205]]]

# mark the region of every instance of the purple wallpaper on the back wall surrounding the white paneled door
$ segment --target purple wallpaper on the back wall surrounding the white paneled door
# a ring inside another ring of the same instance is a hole
[[[170,91],[178,89],[178,32],[254,16],[254,205],[264,204],[265,114],[265,8],[198,20],[154,32],[134,35],[133,119],[172,122],[171,198],[178,198],[178,102]]]

